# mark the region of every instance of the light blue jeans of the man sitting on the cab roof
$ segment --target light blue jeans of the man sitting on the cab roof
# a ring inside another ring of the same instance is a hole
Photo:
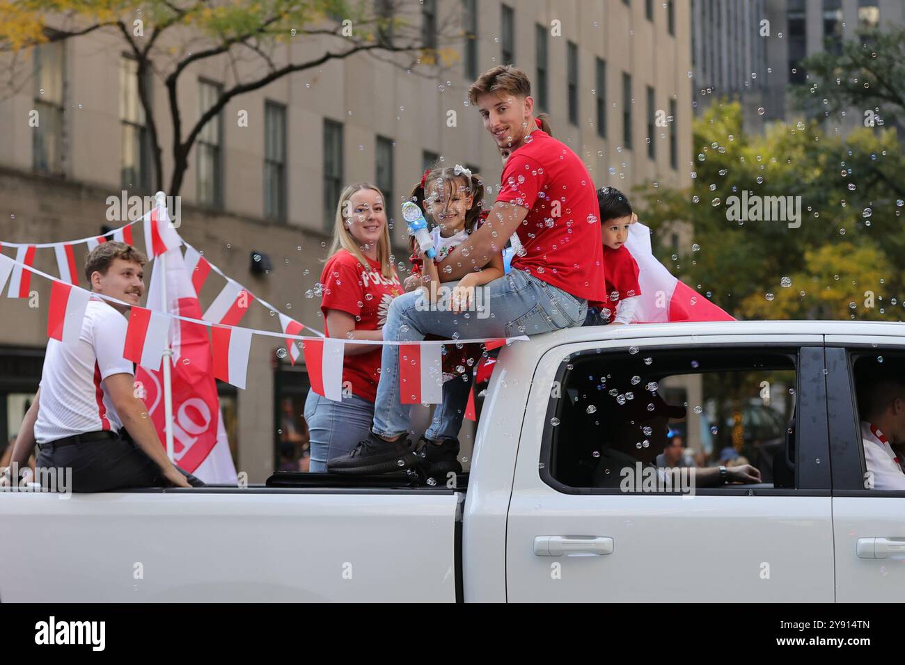
[[[454,284],[443,286],[452,288]],[[420,289],[397,296],[390,303],[386,316],[384,339],[421,341],[428,334],[460,339],[516,337],[572,328],[585,322],[585,299],[576,298],[519,269],[481,289],[485,295],[482,299],[485,310],[471,311],[467,316],[453,313],[445,303],[439,308],[428,307],[424,291]],[[443,393],[445,397],[446,391]],[[407,432],[409,424],[409,406],[399,400],[399,347],[385,345],[373,430],[378,436],[392,439]]]

